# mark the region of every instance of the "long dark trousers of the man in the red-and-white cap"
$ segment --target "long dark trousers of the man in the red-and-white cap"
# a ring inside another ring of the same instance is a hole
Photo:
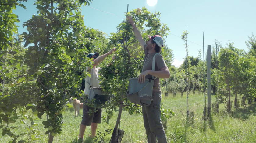
[[[144,127],[148,137],[148,143],[167,143],[164,127],[161,122],[161,92],[153,92],[153,101],[149,106],[142,107]]]

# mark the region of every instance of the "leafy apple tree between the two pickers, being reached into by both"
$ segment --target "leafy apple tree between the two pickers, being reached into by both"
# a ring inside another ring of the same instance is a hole
[[[160,12],[151,13],[146,8],[142,8],[141,11],[135,9],[126,13],[126,16],[128,15],[132,16],[137,28],[142,33],[144,41],[148,41],[148,35],[160,35],[163,37],[168,35],[166,31],[169,31],[169,28],[166,24],[160,23]],[[113,111],[117,111],[116,107],[119,107],[121,102],[124,102],[124,109],[129,111],[130,114],[141,112],[139,106],[127,100],[126,93],[128,91],[129,78],[138,77],[144,60],[144,50],[137,42],[132,26],[127,20],[117,26],[116,33],[111,33],[108,46],[110,48],[115,47],[116,52],[114,60],[111,57],[105,60],[111,64],[104,66],[100,73],[101,88],[103,88],[103,91],[113,95],[110,101],[104,105],[108,115],[102,118],[107,122],[112,117]],[[164,51],[165,49],[163,48],[162,52]]]

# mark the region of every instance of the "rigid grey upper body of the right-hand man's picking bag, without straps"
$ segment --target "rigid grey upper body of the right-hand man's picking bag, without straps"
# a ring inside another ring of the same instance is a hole
[[[148,84],[146,86],[146,84]],[[130,78],[129,79],[129,93],[136,93],[139,92],[143,87],[145,87],[144,89],[142,89],[139,93],[139,96],[152,96],[152,92],[153,92],[153,85],[154,85],[154,80],[150,80],[149,83],[149,79],[146,79],[145,82],[143,83],[139,83],[138,82],[138,78]]]

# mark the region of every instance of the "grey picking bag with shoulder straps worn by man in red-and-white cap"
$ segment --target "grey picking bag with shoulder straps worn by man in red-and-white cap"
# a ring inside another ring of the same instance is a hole
[[[152,70],[153,71],[155,70],[155,56],[157,54],[159,54],[159,53],[156,53],[154,55],[153,61],[152,61]],[[145,61],[147,60],[147,58],[148,58],[148,56],[146,57]],[[145,61],[144,61],[144,64],[145,64]],[[142,72],[144,69],[144,64],[143,64]],[[152,93],[153,93],[154,80],[156,78],[157,77],[154,78],[154,76],[152,76],[153,80],[146,79],[144,83],[141,83],[143,85],[141,85],[138,82],[138,78],[130,78],[129,79],[129,89],[126,94],[127,99],[130,100],[132,103],[138,104],[142,107],[146,107],[146,106],[150,105],[153,100]],[[137,82],[134,82],[133,80],[137,80]],[[141,89],[138,89],[139,87]]]

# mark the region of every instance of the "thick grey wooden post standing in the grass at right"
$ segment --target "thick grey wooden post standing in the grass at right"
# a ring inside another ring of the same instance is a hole
[[[207,46],[207,107],[208,117],[211,113],[211,45]]]

